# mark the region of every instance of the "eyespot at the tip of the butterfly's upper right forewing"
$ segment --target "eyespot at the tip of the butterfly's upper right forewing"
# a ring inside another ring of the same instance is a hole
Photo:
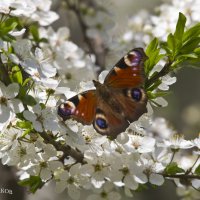
[[[124,62],[131,67],[138,66],[141,61],[141,54],[137,51],[132,51],[128,55],[124,56]],[[136,70],[136,69],[134,69]]]

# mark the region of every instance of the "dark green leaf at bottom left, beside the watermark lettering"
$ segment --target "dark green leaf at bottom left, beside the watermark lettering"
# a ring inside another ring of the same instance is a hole
[[[30,192],[35,193],[38,189],[42,188],[44,182],[42,182],[39,176],[30,176],[27,179],[18,182],[21,186],[28,186]]]

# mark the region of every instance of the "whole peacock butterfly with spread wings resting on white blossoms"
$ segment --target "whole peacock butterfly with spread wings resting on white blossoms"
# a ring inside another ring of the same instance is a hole
[[[114,139],[131,122],[147,112],[147,96],[142,48],[129,51],[111,69],[104,83],[93,80],[96,90],[82,92],[62,103],[58,115],[63,120],[75,119]]]

